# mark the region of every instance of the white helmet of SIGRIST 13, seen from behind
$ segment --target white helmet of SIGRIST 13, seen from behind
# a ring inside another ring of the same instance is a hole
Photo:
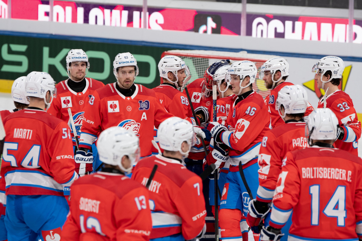
[[[129,173],[139,160],[139,138],[131,130],[112,126],[99,135],[97,150],[101,162],[118,166],[123,172]],[[123,156],[130,159],[130,168],[123,167]]]

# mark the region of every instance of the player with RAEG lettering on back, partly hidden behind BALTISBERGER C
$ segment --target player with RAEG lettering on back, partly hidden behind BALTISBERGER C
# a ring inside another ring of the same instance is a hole
[[[284,86],[278,93],[275,107],[285,124],[265,133],[259,151],[259,187],[256,199],[249,202],[247,221],[251,229],[260,233],[260,219],[270,215],[269,203],[282,169],[282,159],[288,151],[309,147],[305,137],[304,112],[308,105],[306,90],[300,85]],[[282,230],[288,233],[291,221]],[[285,240],[287,237],[283,237]],[[282,240],[283,240],[282,238]]]

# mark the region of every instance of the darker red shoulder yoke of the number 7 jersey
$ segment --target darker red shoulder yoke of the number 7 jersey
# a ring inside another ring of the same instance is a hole
[[[155,162],[157,160],[157,162]],[[159,162],[163,162],[166,165],[160,164]],[[182,186],[187,180],[191,177],[197,176],[195,173],[189,171],[184,165],[178,163],[169,163],[165,162],[156,156],[150,156],[148,158],[144,158],[140,160],[137,164],[137,169],[146,167],[152,169],[153,166],[157,164],[158,168],[156,172],[160,172],[163,175],[170,178],[176,185]]]

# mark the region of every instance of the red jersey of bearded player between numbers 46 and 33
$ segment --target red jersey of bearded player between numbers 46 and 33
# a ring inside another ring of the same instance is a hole
[[[273,90],[270,91],[270,94],[266,96],[264,102],[266,106],[268,107],[268,111],[271,116],[271,127],[275,128],[278,125],[284,124],[284,121],[282,117],[280,117],[278,111],[275,109],[275,104],[277,103],[278,98],[278,92],[281,90],[284,86],[287,85],[294,85],[290,82],[282,82],[279,85],[277,85]],[[313,111],[313,107],[308,102],[306,113],[304,113],[304,116],[308,116]]]

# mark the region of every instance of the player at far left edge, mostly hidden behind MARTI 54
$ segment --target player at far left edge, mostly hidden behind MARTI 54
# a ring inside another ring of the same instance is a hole
[[[4,110],[0,111],[1,120],[4,122],[5,117],[14,113],[16,111],[20,111],[21,109],[25,109],[29,106],[29,100],[26,98],[25,91],[25,78],[26,76],[19,77],[14,80],[13,85],[11,87],[11,97],[14,101],[15,109],[9,111]],[[3,150],[3,143],[0,145],[1,151]],[[0,176],[0,241],[7,240],[7,231],[5,228],[5,208],[6,207],[6,195],[5,195],[5,179]]]

